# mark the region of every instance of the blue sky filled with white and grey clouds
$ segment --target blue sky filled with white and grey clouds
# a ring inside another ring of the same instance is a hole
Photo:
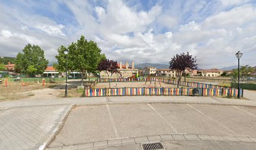
[[[256,65],[256,0],[0,0],[0,56],[28,44],[55,62],[57,49],[80,36],[107,58],[167,63],[189,52],[200,68]]]

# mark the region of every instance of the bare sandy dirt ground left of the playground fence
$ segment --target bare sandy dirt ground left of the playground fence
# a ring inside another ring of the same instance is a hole
[[[26,86],[21,86],[20,82],[8,82],[8,86],[0,84],[0,101],[17,99],[58,99],[63,98],[65,94],[65,82],[41,83],[27,82]],[[80,80],[68,81],[68,97],[81,97],[83,91],[77,89],[81,85]],[[87,86],[87,83],[84,83]]]

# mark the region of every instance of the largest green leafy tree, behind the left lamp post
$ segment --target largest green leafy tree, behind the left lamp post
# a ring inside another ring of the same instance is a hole
[[[58,48],[58,55],[55,56],[58,62],[53,65],[58,71],[65,71],[64,50],[66,49],[68,49],[68,71],[81,73],[82,80],[85,73],[95,73],[100,61],[105,59],[105,55],[102,54],[96,42],[87,41],[84,36],[81,36],[77,42],[72,42],[68,47],[60,46]]]

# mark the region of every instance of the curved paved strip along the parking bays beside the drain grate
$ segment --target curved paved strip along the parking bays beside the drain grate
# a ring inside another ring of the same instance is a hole
[[[123,143],[123,141],[126,141]],[[88,148],[108,148],[113,146],[124,146],[125,144],[141,144],[153,143],[164,141],[227,141],[239,143],[256,143],[256,137],[251,136],[230,136],[230,135],[209,135],[209,134],[161,134],[151,136],[139,136],[131,138],[107,139],[105,141],[94,141],[90,143],[80,143],[67,145],[64,147],[51,147],[51,148],[70,148],[72,146],[88,146]],[[111,144],[110,144],[111,143]],[[49,148],[49,149],[51,149]],[[79,148],[78,148],[79,149]]]

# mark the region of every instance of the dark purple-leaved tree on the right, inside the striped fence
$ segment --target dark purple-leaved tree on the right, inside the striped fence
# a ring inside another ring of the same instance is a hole
[[[178,73],[178,88],[185,69],[193,70],[197,68],[196,58],[193,58],[189,53],[176,54],[176,56],[173,56],[169,64],[169,69],[176,70],[176,73]]]

